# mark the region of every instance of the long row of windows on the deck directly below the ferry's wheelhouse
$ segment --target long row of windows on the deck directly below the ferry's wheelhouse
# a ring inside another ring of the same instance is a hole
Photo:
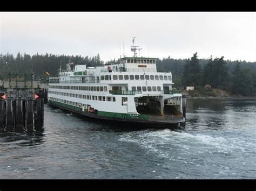
[[[113,75],[113,80],[172,80],[172,76],[162,75]],[[111,80],[111,75],[102,75],[101,80]]]

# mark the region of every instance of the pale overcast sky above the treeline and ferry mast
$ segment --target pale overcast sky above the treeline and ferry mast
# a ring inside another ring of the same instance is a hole
[[[0,52],[256,61],[255,12],[1,12]],[[120,46],[121,45],[121,46]]]

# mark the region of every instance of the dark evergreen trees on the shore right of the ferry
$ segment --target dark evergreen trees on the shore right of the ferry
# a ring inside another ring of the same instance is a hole
[[[176,88],[194,86],[202,89],[207,85],[229,91],[233,95],[256,95],[256,62],[231,61],[221,58],[199,59],[197,53],[189,59],[157,61],[158,71],[172,72]]]

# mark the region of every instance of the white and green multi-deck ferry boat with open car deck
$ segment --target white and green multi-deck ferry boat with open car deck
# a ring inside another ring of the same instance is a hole
[[[133,56],[115,65],[86,67],[68,63],[49,78],[48,103],[77,114],[138,124],[185,123],[183,98],[173,90],[171,72],[157,72],[158,58]]]

